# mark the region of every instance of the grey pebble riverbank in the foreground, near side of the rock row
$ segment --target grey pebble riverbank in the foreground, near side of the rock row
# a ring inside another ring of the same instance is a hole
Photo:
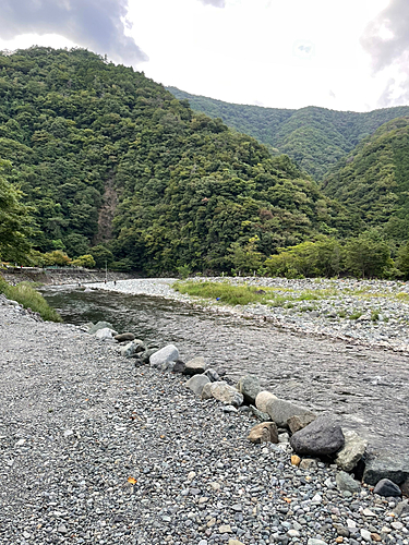
[[[409,543],[398,498],[339,492],[334,465],[249,443],[249,413],[79,327],[0,305],[0,354],[4,545]]]

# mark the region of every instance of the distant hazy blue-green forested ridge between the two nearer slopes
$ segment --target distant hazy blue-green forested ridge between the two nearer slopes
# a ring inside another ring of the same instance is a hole
[[[317,181],[383,123],[409,116],[407,106],[364,113],[314,106],[287,110],[222,102],[177,87],[167,88],[177,98],[189,100],[194,110],[220,118],[227,125],[266,144],[273,153],[287,154]]]

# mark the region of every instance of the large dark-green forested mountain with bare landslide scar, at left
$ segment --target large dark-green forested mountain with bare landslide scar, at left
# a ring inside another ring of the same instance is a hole
[[[103,242],[117,267],[222,270],[234,243],[268,256],[358,228],[286,156],[92,52],[0,55],[0,159],[41,252]]]

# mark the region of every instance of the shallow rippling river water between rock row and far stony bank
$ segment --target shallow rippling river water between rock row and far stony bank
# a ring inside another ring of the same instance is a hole
[[[175,343],[181,359],[205,356],[239,378],[252,373],[280,398],[316,412],[370,441],[371,450],[409,450],[409,359],[390,350],[277,329],[160,298],[47,288],[48,303],[72,324],[107,320],[119,332]]]

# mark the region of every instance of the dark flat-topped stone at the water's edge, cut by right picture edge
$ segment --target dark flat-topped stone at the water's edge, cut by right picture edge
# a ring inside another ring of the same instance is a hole
[[[366,460],[363,482],[375,485],[382,479],[402,484],[409,479],[409,457],[399,455],[372,456]]]

